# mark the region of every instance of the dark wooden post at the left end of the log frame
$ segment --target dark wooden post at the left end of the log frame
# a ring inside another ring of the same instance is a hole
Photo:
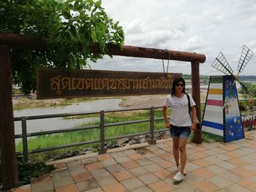
[[[15,188],[18,185],[11,65],[10,46],[0,45],[0,149],[4,190]]]

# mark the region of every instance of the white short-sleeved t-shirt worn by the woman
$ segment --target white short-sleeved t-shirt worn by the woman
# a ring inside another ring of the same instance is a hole
[[[189,95],[190,106],[195,106],[195,101],[192,96]],[[163,105],[172,109],[170,114],[170,124],[173,126],[191,126],[192,121],[189,116],[189,101],[187,100],[187,95],[184,94],[183,97],[178,98],[176,96],[168,95],[165,98]]]

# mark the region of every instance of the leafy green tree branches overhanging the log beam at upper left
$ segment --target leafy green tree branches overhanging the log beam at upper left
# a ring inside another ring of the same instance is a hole
[[[87,59],[101,54],[90,52],[98,44],[122,45],[124,31],[108,18],[101,1],[92,0],[1,0],[0,33],[44,37],[45,49],[12,49],[12,80],[24,93],[35,91],[35,69],[86,69]]]

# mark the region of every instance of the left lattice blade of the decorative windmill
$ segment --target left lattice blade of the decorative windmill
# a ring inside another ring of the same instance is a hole
[[[222,72],[227,75],[228,74],[233,75],[233,70],[231,69],[230,65],[227,63],[227,60],[225,56],[222,54],[222,52],[219,53],[219,55],[214,60],[214,63],[211,64],[211,66],[219,70],[219,72]]]

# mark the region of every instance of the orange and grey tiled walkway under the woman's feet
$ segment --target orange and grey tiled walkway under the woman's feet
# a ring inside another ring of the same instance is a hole
[[[171,150],[171,139],[163,139],[157,145],[56,161],[54,172],[15,192],[256,191],[256,131],[234,142],[187,145],[187,176],[180,183],[172,178]]]

